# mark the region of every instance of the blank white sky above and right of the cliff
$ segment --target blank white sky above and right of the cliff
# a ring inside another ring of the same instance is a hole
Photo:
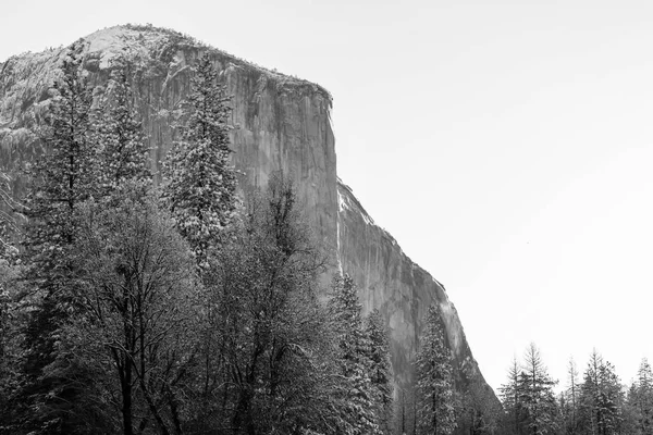
[[[0,60],[152,23],[334,96],[338,173],[497,388],[653,359],[653,2],[0,0]],[[361,164],[365,162],[365,164]]]

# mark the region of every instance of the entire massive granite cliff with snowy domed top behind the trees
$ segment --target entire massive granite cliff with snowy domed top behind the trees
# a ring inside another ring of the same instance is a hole
[[[318,239],[332,253],[334,270],[354,277],[366,313],[379,308],[386,319],[396,382],[409,381],[409,361],[432,302],[442,308],[457,380],[480,376],[444,287],[406,257],[337,178],[331,96],[325,89],[151,26],[112,27],[78,44],[98,94],[111,59],[119,54],[130,59],[155,171],[175,139],[171,124],[189,89],[189,65],[208,52],[234,96],[232,144],[242,182],[263,186],[276,170],[295,181]],[[25,182],[20,166],[42,152],[32,130],[47,113],[50,87],[65,53],[65,49],[26,53],[0,63],[0,167],[15,178],[16,196]]]

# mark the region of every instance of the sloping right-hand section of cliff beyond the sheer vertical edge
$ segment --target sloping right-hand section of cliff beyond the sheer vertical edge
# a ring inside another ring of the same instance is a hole
[[[392,364],[396,381],[409,381],[409,366],[432,303],[439,303],[452,350],[456,380],[467,383],[482,375],[465,338],[456,308],[442,284],[414,263],[396,240],[365,211],[352,189],[337,184],[337,260],[360,288],[364,311],[379,309],[391,331]]]

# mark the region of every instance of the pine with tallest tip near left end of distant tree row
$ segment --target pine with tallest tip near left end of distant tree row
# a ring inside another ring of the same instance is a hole
[[[555,434],[557,403],[553,386],[556,383],[549,375],[540,350],[533,343],[526,350],[519,384],[520,400],[526,411],[529,432],[533,435]]]

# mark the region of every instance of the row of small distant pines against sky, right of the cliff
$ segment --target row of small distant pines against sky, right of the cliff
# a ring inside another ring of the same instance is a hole
[[[523,361],[513,360],[500,388],[502,434],[649,435],[653,434],[653,372],[643,359],[626,387],[615,366],[596,350],[582,373],[569,360],[565,386],[557,395],[540,350],[531,344]]]

